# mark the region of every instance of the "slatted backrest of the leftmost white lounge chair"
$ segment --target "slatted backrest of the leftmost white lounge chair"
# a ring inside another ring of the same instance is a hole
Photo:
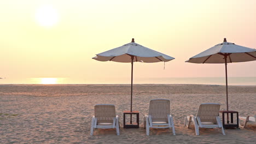
[[[94,106],[97,123],[113,123],[115,106],[110,104],[97,104]]]

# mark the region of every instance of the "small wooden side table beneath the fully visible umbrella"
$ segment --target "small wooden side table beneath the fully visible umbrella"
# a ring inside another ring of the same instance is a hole
[[[125,115],[131,115],[130,123],[125,122]],[[136,123],[132,123],[132,115],[136,115]],[[124,111],[124,128],[139,128],[139,111]]]

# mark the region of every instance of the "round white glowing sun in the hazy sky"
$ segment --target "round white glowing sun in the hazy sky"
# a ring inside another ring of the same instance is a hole
[[[52,27],[59,21],[59,14],[51,5],[42,5],[36,11],[36,21],[40,26]]]

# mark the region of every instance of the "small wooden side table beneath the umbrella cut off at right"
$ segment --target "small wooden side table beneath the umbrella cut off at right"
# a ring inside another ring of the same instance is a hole
[[[219,113],[222,113],[222,125],[223,128],[239,128],[239,120],[238,120],[238,111],[219,111]],[[227,122],[225,123],[225,113],[227,115],[227,117],[229,117],[229,113],[230,113],[230,123],[229,123],[229,119],[227,118]],[[233,114],[236,113],[236,124],[234,124],[234,117]]]

